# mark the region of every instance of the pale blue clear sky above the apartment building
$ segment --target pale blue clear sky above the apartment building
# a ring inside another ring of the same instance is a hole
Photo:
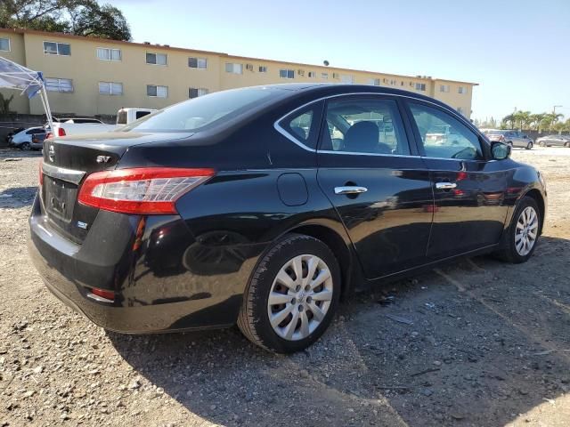
[[[135,42],[476,82],[473,118],[570,117],[570,0],[115,0]]]

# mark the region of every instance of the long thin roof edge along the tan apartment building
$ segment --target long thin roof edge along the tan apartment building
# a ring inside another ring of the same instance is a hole
[[[125,44],[125,45],[129,45],[129,46],[143,47],[145,49],[154,48],[154,49],[161,49],[161,50],[166,50],[166,51],[171,51],[171,52],[203,53],[203,54],[209,54],[209,55],[222,56],[222,57],[226,57],[228,59],[232,58],[232,59],[237,59],[237,60],[255,60],[255,61],[272,62],[272,63],[280,63],[280,64],[286,63],[289,65],[298,66],[298,67],[318,68],[319,70],[322,70],[322,71],[325,69],[336,70],[336,71],[350,71],[350,72],[356,72],[356,73],[381,74],[384,76],[415,78],[415,79],[420,79],[420,80],[430,80],[430,81],[434,81],[434,82],[444,81],[444,82],[450,82],[450,83],[460,83],[460,84],[464,84],[464,85],[473,85],[473,86],[479,85],[478,83],[465,82],[465,81],[460,81],[460,80],[450,80],[450,79],[445,79],[445,78],[436,78],[436,77],[431,77],[431,76],[405,76],[402,74],[385,73],[385,72],[381,72],[381,71],[369,71],[369,70],[365,70],[365,69],[340,68],[340,67],[330,67],[330,66],[324,66],[324,65],[305,64],[302,62],[291,62],[289,60],[267,60],[264,58],[253,58],[253,57],[248,57],[248,56],[232,55],[231,53],[225,53],[225,52],[203,51],[203,50],[199,50],[199,49],[190,49],[190,48],[185,48],[185,47],[173,47],[173,46],[170,46],[169,44],[151,44],[151,43],[126,42],[123,40],[111,40],[111,39],[99,38],[99,37],[75,36],[72,34],[48,32],[48,31],[38,31],[36,29],[27,29],[27,28],[0,28],[0,33],[34,34],[37,36],[57,36],[57,37],[63,37],[63,38],[68,38],[68,39],[72,39],[72,40],[83,40],[83,41],[86,40],[86,41],[93,41],[93,42],[98,42],[98,43],[108,43],[108,44]]]

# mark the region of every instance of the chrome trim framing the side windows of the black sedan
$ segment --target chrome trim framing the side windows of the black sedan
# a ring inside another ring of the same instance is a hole
[[[413,125],[415,125],[415,123],[411,123],[411,118],[410,118],[411,111],[410,111],[410,107],[408,106],[407,100],[419,101],[419,102],[424,102],[424,103],[429,104],[429,105],[433,105],[436,109],[441,109],[442,111],[447,112],[452,117],[454,117],[456,120],[459,120],[462,125],[466,125],[471,131],[473,131],[473,133],[475,133],[479,137],[479,141],[481,142],[483,151],[485,153],[485,159],[486,159],[485,161],[487,161],[487,162],[494,161],[493,159],[490,159],[490,157],[489,157],[489,153],[491,150],[490,145],[485,141],[485,139],[483,139],[481,137],[481,133],[478,131],[478,129],[476,129],[476,127],[472,123],[468,122],[466,117],[461,117],[459,114],[457,114],[456,111],[453,111],[452,109],[449,109],[448,107],[444,107],[442,105],[439,105],[436,102],[422,100],[422,99],[417,98],[415,96],[403,95],[400,93],[354,92],[354,93],[337,93],[334,95],[323,96],[323,97],[318,98],[316,100],[306,102],[305,104],[297,107],[296,109],[292,109],[287,114],[279,117],[277,120],[275,120],[275,122],[273,122],[273,128],[277,132],[281,133],[281,135],[283,135],[289,141],[294,142],[297,146],[301,147],[302,149],[316,153],[317,149],[311,149],[310,147],[307,147],[305,144],[303,144],[300,141],[297,141],[297,139],[293,135],[290,135],[285,129],[283,129],[280,125],[281,120],[283,120],[284,118],[288,117],[289,115],[295,113],[299,109],[304,109],[305,107],[307,107],[310,104],[313,104],[314,102],[320,102],[320,101],[330,100],[332,98],[338,98],[338,97],[349,96],[349,95],[385,95],[385,96],[393,96],[397,99],[403,100],[403,105],[401,105],[400,102],[398,102],[398,109],[400,110],[400,114],[402,116],[403,126],[404,126],[404,129],[406,131],[406,134],[408,133],[409,126],[411,127],[411,131],[412,131],[411,137],[412,137],[412,143],[414,145],[413,146],[411,145],[410,135],[408,135],[408,143],[410,144],[410,149],[412,149],[412,151],[413,151],[413,149],[416,149],[416,150],[418,149],[417,148],[417,141],[416,141],[417,135],[415,133],[416,131],[413,129]],[[322,121],[322,117],[321,117],[321,121]],[[485,143],[483,143],[483,141],[485,141]],[[326,150],[320,150],[318,152],[325,153],[327,151]],[[349,151],[332,151],[331,153],[334,153],[334,154],[344,153],[344,154],[346,154],[346,153],[349,153]],[[400,157],[414,157],[414,158],[421,157],[420,155],[404,156],[404,155],[383,154],[383,153],[369,153],[369,154],[367,154],[367,153],[353,153],[353,154],[358,154],[359,156],[400,156]],[[438,157],[426,157],[426,158],[438,158]],[[449,158],[443,158],[443,157],[442,157],[442,159],[450,160]],[[454,159],[451,159],[451,160],[454,160]],[[482,160],[464,160],[464,161],[481,162]]]

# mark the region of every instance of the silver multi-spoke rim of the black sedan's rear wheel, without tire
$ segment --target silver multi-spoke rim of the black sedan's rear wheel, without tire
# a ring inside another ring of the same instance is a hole
[[[267,314],[281,338],[298,341],[312,334],[332,302],[329,266],[311,254],[298,255],[281,267],[273,280]]]

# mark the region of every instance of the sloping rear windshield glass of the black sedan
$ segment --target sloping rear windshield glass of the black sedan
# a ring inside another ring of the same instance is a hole
[[[258,87],[209,93],[142,117],[122,131],[195,132],[257,107],[274,93]]]

